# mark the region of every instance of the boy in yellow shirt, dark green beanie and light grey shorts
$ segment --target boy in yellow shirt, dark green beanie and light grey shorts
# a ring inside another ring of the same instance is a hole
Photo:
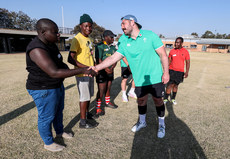
[[[93,43],[89,38],[92,32],[93,20],[88,14],[83,14],[80,17],[79,32],[72,40],[70,47],[70,58],[68,62],[73,64],[75,68],[82,68],[88,66],[94,66],[92,56]],[[92,125],[87,122],[86,118],[92,118],[92,115],[88,112],[90,99],[94,94],[94,78],[83,76],[83,74],[76,76],[77,87],[80,97],[80,128],[94,128],[97,125]]]

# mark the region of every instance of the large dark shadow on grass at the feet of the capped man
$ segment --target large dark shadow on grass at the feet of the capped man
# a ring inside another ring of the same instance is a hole
[[[147,127],[134,136],[131,159],[135,158],[192,158],[206,159],[203,149],[197,142],[189,127],[173,110],[172,103],[166,105],[168,116],[165,117],[166,135],[157,138],[158,117],[152,98],[148,99]]]

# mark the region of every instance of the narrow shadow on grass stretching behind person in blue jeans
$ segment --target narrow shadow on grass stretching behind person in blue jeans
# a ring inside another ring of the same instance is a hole
[[[65,87],[65,90],[68,90],[68,89],[74,87],[75,85],[76,84],[71,84],[71,85]],[[34,107],[36,107],[35,103],[30,102],[30,103],[27,103],[27,104],[13,110],[12,112],[9,112],[7,114],[0,116],[0,126],[2,124],[7,123],[10,120],[13,120],[14,118],[17,118],[18,116],[20,116],[22,114],[28,112],[29,110],[33,109]]]

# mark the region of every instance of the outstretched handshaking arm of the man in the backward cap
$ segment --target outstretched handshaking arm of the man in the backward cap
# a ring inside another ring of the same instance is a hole
[[[102,63],[95,66],[95,69],[97,71],[100,71],[102,69],[105,69],[113,64],[115,64],[117,61],[122,59],[122,55],[118,52],[115,52],[112,56],[107,57]]]

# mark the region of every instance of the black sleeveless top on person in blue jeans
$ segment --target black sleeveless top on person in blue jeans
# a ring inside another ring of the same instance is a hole
[[[51,78],[34,63],[29,54],[35,48],[44,49],[59,69],[68,69],[55,44],[46,45],[38,37],[34,38],[26,48],[26,69],[29,72],[26,88],[31,90],[55,89],[63,83],[63,78]]]

